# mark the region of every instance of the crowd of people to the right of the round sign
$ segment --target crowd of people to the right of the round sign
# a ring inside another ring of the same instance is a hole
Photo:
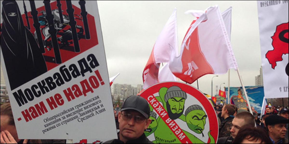
[[[219,120],[217,143],[288,143],[288,107],[266,106],[261,117],[254,107],[253,115],[231,104],[214,108]]]

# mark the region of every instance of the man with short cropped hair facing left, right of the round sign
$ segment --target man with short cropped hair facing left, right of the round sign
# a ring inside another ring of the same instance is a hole
[[[232,143],[242,126],[255,127],[255,120],[251,113],[247,111],[240,112],[231,122],[231,136],[218,139],[218,143]]]

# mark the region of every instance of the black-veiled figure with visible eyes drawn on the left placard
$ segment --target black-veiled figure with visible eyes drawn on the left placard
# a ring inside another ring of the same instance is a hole
[[[2,2],[1,51],[11,90],[47,72],[39,46],[24,26],[16,1]]]

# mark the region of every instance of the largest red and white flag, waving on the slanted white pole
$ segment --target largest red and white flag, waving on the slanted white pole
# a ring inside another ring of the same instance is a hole
[[[227,33],[230,24],[225,24],[218,6],[206,11],[188,11],[197,18],[190,25],[181,54],[171,59],[173,74],[192,84],[206,74],[224,74],[228,69],[237,69],[237,62]]]

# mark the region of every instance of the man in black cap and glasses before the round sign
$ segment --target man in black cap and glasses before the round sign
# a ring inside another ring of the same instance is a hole
[[[150,108],[141,96],[129,96],[118,113],[118,139],[104,143],[152,143],[147,139],[144,130],[151,124]]]

